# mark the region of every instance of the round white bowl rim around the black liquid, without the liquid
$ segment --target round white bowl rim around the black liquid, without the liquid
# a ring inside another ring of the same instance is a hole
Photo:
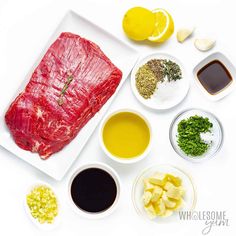
[[[83,170],[90,169],[90,168],[98,168],[98,169],[106,171],[108,174],[110,174],[112,176],[112,178],[114,179],[114,181],[116,183],[116,188],[117,188],[116,199],[107,210],[104,210],[102,212],[93,213],[93,212],[87,212],[87,211],[80,209],[78,206],[76,206],[76,204],[74,203],[72,196],[71,196],[71,185],[72,185],[74,178]],[[69,180],[68,195],[69,195],[70,205],[72,206],[73,210],[82,217],[85,217],[88,219],[100,219],[100,218],[106,217],[106,216],[110,215],[117,207],[119,197],[120,197],[120,188],[121,188],[120,187],[120,178],[119,178],[118,174],[116,173],[116,171],[113,168],[111,168],[110,166],[108,166],[104,163],[100,163],[100,162],[94,162],[91,164],[83,165],[74,172],[74,174],[71,176],[71,178]]]

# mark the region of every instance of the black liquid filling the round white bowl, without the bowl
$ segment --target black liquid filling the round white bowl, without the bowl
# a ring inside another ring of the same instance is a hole
[[[113,177],[99,168],[80,172],[71,184],[71,196],[78,208],[98,213],[107,210],[115,201],[117,187]]]

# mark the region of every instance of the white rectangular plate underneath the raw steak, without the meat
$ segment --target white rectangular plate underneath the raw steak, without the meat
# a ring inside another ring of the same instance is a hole
[[[111,59],[111,61],[119,69],[121,69],[121,71],[123,72],[123,77],[114,95],[108,100],[108,102],[102,107],[102,109],[85,125],[85,127],[79,132],[76,138],[63,150],[52,155],[48,160],[45,161],[41,160],[38,154],[25,151],[15,144],[4,121],[5,112],[12,101],[6,102],[6,107],[5,109],[3,109],[3,112],[1,111],[0,114],[0,145],[56,180],[61,180],[69,170],[69,168],[72,166],[73,162],[77,159],[79,153],[81,152],[87,140],[93,133],[94,129],[106,113],[112,100],[119,92],[122,84],[128,77],[133,65],[138,58],[138,53],[134,49],[118,40],[108,32],[89,22],[85,18],[79,16],[75,12],[69,11],[48,41],[48,44],[46,45],[45,49],[36,61],[33,68],[31,68],[30,73],[26,76],[25,80],[20,85],[19,90],[12,93],[13,98],[16,97],[24,89],[25,85],[30,79],[30,75],[33,72],[34,68],[37,66],[49,46],[56,40],[61,32],[72,32],[98,44],[102,51]],[[11,83],[11,81],[9,81],[9,83]]]

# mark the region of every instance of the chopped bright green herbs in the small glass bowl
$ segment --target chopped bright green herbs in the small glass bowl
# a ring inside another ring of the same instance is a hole
[[[208,151],[211,142],[205,141],[201,134],[211,133],[212,127],[208,118],[198,115],[181,120],[177,129],[178,146],[188,156],[202,156]]]

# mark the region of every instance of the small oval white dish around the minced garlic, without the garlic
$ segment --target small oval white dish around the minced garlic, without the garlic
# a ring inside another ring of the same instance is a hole
[[[29,206],[27,204],[27,195],[35,188],[35,187],[38,187],[38,186],[46,186],[48,188],[50,188],[54,194],[55,194],[55,197],[57,199],[57,204],[58,204],[58,215],[55,217],[54,219],[54,222],[52,224],[48,224],[48,223],[44,223],[44,224],[41,224],[39,223],[39,221],[37,219],[35,219],[32,215],[31,215],[31,212],[30,212],[30,209],[29,209]],[[60,217],[60,214],[61,214],[61,208],[60,208],[60,202],[58,200],[58,197],[57,197],[57,193],[55,192],[55,190],[53,189],[53,187],[48,184],[48,183],[45,183],[45,182],[37,182],[35,184],[33,184],[26,192],[25,196],[24,196],[24,208],[25,208],[25,212],[26,214],[28,215],[29,219],[32,221],[32,223],[37,226],[38,228],[42,229],[42,230],[53,230],[55,229],[61,222],[61,217]]]

